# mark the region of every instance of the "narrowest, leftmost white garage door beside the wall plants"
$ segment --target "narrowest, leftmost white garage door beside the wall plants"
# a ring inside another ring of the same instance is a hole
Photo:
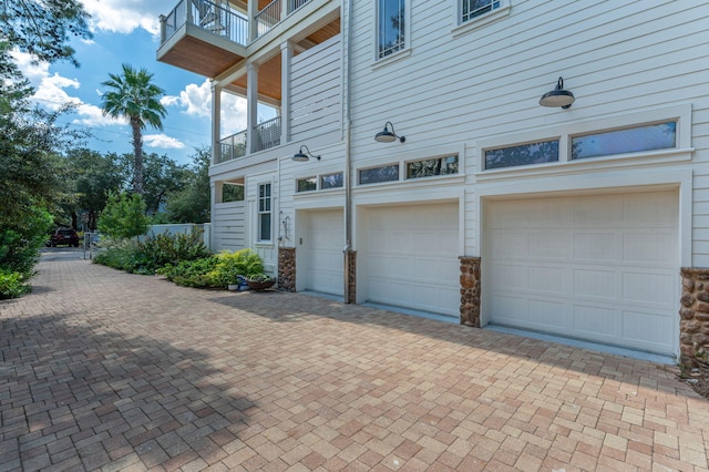
[[[310,212],[306,215],[306,289],[343,295],[342,211]]]

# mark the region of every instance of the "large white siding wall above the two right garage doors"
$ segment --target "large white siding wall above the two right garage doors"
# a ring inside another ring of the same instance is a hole
[[[411,50],[374,63],[376,2],[354,2],[354,165],[464,145],[465,252],[480,255],[479,140],[691,103],[692,264],[709,266],[709,3],[510,3],[497,21],[456,28],[453,0],[410,1]],[[540,106],[559,75],[576,102],[567,111]],[[404,144],[373,141],[386,121]]]

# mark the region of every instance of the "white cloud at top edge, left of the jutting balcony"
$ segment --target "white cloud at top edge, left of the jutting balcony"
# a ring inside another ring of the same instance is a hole
[[[92,30],[124,34],[138,28],[157,34],[160,16],[168,13],[174,7],[169,2],[154,0],[83,0],[83,4],[84,10],[92,17]]]

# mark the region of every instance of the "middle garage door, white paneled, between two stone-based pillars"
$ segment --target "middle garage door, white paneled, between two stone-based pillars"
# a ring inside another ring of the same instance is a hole
[[[367,211],[368,299],[458,317],[458,204]]]

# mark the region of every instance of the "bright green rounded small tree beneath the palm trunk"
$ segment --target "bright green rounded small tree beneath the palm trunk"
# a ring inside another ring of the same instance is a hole
[[[138,194],[111,192],[99,217],[99,230],[114,239],[130,239],[147,232],[145,202]]]

